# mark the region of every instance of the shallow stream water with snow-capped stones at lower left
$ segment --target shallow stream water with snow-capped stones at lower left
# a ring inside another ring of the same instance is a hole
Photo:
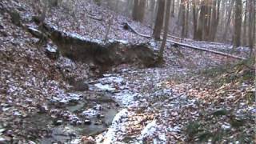
[[[115,82],[122,82],[122,78],[99,78],[88,82],[89,90],[52,98],[47,106],[41,106],[42,112],[27,117],[23,126],[31,129],[31,139],[38,139],[36,135],[42,137],[42,144],[78,143],[82,136],[101,134],[120,110],[113,98],[118,92],[112,87]]]

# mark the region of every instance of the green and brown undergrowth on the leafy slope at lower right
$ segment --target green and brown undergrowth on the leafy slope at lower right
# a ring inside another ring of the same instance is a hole
[[[254,58],[251,58],[235,64],[172,76],[171,80],[177,84],[190,83],[191,89],[206,92],[204,99],[210,104],[199,110],[199,118],[191,120],[184,127],[187,142],[254,143],[255,116],[239,107],[239,102],[246,103],[246,106],[255,104],[254,64]],[[213,91],[207,94],[208,90]],[[233,98],[229,99],[230,95]],[[222,109],[218,109],[218,106]],[[243,111],[240,115],[239,110]]]

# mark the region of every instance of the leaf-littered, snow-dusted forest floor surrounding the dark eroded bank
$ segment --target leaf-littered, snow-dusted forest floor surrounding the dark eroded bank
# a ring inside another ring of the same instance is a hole
[[[88,3],[77,1],[79,9],[67,3],[51,8],[46,22],[103,39],[113,15],[110,39],[159,47],[160,42],[123,29],[123,23],[142,34],[151,34],[150,27]],[[88,63],[47,58],[38,38],[14,25],[6,10],[18,10],[30,26],[38,14],[31,0],[0,2],[0,143],[256,141],[254,62],[167,43],[162,66],[122,64],[98,77]],[[244,58],[249,53],[218,42],[185,42]],[[74,90],[66,81],[70,76],[84,80],[85,90]]]

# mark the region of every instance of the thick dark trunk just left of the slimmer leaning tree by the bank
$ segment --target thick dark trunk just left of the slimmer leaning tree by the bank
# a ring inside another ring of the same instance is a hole
[[[163,18],[164,18],[164,7],[165,7],[165,0],[158,0],[158,14],[154,24],[154,32],[153,38],[156,40],[160,40],[160,34],[163,25]]]

